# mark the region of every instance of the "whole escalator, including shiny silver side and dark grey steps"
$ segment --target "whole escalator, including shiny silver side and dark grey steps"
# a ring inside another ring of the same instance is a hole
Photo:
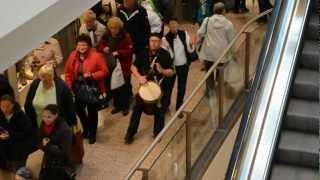
[[[278,0],[226,180],[319,180],[320,3]]]

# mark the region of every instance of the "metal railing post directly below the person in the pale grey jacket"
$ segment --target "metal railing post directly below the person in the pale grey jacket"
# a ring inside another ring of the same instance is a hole
[[[219,128],[223,128],[223,105],[224,105],[224,68],[225,66],[218,66],[218,103],[219,103],[219,112],[218,112],[218,119],[219,119]]]

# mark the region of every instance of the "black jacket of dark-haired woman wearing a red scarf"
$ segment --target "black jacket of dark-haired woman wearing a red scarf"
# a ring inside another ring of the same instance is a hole
[[[40,132],[40,149],[43,150],[44,168],[61,168],[71,165],[72,132],[68,124],[60,117],[56,119],[53,132],[48,137]],[[49,138],[46,146],[42,145],[43,138]]]

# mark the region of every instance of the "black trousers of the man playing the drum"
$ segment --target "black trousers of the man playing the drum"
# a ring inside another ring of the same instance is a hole
[[[165,114],[170,105],[170,97],[174,84],[174,77],[164,78],[161,83],[162,98],[160,100],[161,107],[155,108],[153,135],[157,136],[165,125]],[[144,110],[143,100],[137,95],[136,104],[130,118],[130,124],[127,130],[128,136],[134,136],[139,128],[140,118]]]

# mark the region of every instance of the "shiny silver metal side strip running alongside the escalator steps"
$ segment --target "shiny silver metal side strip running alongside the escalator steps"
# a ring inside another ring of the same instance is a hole
[[[226,180],[268,178],[309,3],[276,2]]]

